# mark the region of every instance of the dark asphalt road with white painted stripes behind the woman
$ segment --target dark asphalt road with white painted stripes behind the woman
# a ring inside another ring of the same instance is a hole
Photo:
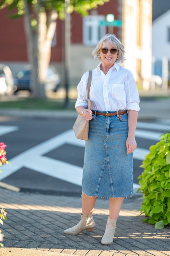
[[[11,166],[3,166],[0,181],[25,192],[81,196],[84,142],[75,139],[74,122],[74,118],[0,116],[0,141],[7,145],[11,162]],[[148,148],[169,127],[166,120],[138,122],[133,160],[135,184],[143,171],[139,166]]]

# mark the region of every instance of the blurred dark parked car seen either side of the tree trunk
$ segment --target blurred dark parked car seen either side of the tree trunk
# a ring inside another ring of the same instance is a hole
[[[46,91],[56,91],[58,86],[60,85],[61,79],[58,71],[52,65],[49,66],[47,70],[47,81],[45,84]],[[18,92],[20,90],[29,90],[32,91],[31,88],[31,67],[30,65],[25,66],[22,70],[20,70],[16,78],[14,79],[14,90]]]

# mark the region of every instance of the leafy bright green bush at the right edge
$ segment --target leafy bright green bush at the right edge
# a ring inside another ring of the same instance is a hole
[[[144,168],[138,177],[143,193],[141,214],[156,229],[170,226],[170,133],[163,134],[161,140],[150,147],[140,167]]]

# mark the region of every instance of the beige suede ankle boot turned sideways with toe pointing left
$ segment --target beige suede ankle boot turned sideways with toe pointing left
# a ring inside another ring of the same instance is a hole
[[[63,233],[67,235],[77,235],[85,229],[86,229],[86,232],[93,231],[94,227],[95,227],[95,222],[93,220],[92,214],[90,215],[81,214],[81,220],[79,221],[79,223],[72,228],[68,228],[64,230]]]

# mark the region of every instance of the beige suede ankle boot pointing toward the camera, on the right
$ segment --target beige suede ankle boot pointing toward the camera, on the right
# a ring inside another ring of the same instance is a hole
[[[108,217],[105,232],[101,239],[102,244],[113,243],[113,238],[114,238],[114,233],[115,233],[115,228],[116,228],[116,221],[117,220],[110,219]]]

